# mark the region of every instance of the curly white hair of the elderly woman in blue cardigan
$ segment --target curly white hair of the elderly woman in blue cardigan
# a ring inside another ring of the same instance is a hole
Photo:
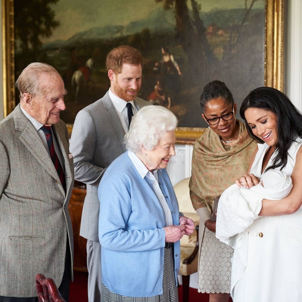
[[[132,117],[125,135],[126,149],[140,152],[140,146],[152,150],[161,137],[177,127],[176,116],[162,106],[145,106]]]

